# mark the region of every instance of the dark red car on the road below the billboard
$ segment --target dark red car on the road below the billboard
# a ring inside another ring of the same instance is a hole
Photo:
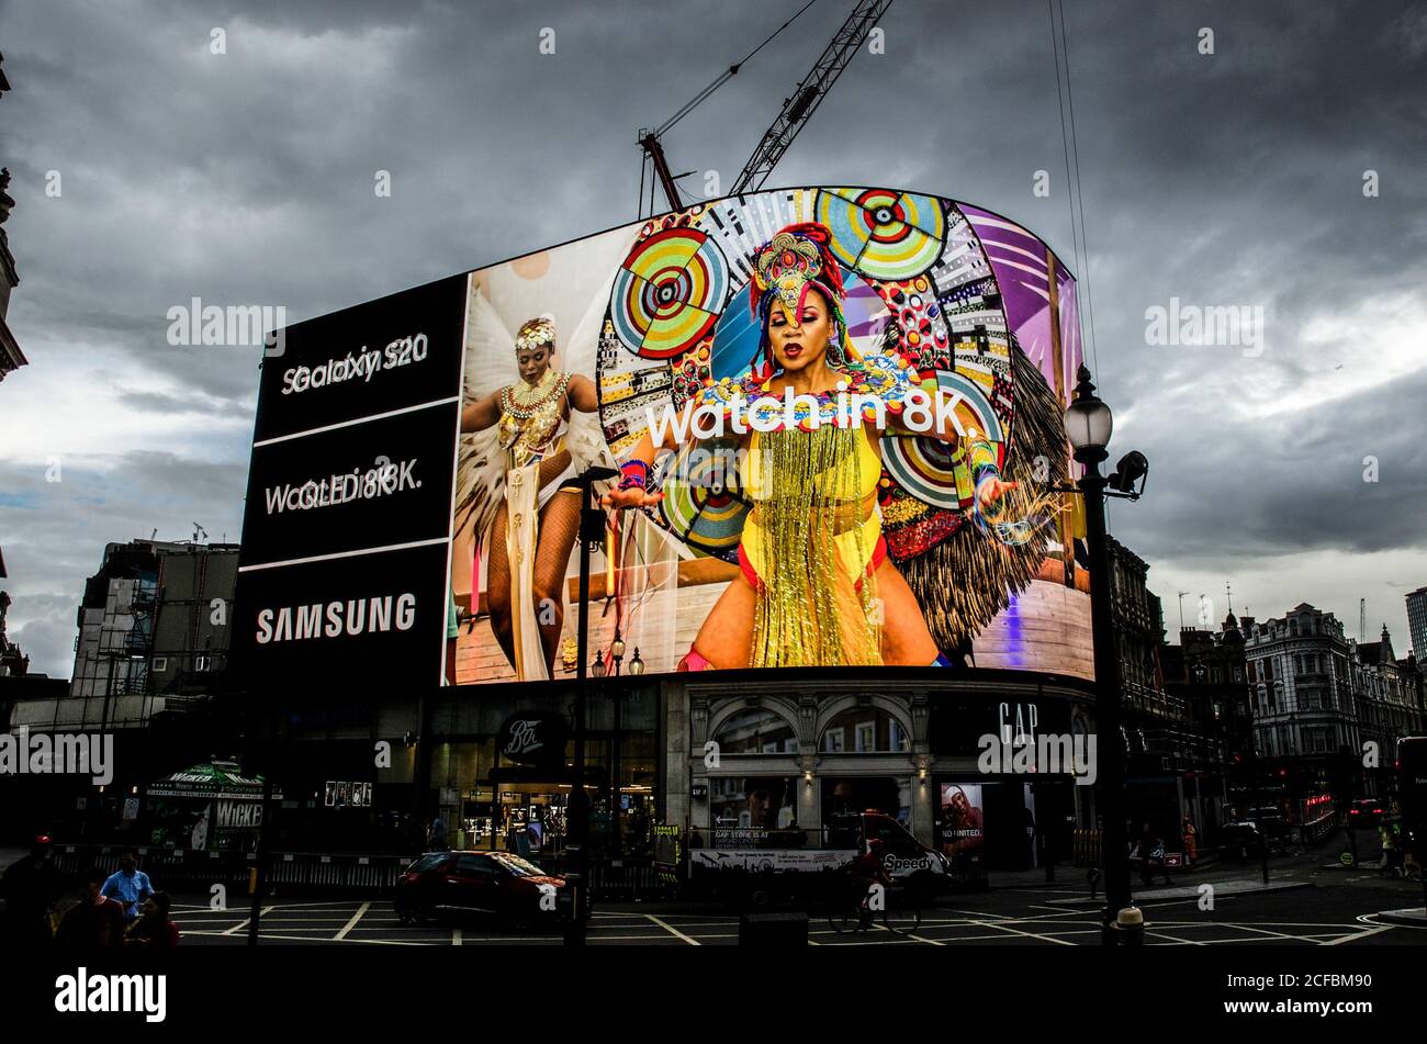
[[[402,924],[452,910],[554,924],[564,887],[564,877],[508,851],[431,851],[397,881],[395,906]]]

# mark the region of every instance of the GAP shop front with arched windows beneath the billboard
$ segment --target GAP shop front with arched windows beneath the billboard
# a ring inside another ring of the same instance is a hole
[[[1072,859],[1075,830],[1093,822],[1092,787],[1076,786],[1072,774],[1083,762],[1032,757],[1029,769],[997,762],[987,772],[982,754],[987,736],[1035,752],[1049,735],[1080,736],[1072,749],[1083,753],[1090,719],[1082,687],[839,687],[689,685],[671,695],[671,732],[678,700],[686,700],[691,754],[686,776],[669,782],[669,807],[685,817],[691,846],[836,847],[835,834],[852,817],[879,812],[952,859],[972,883],[986,871]]]

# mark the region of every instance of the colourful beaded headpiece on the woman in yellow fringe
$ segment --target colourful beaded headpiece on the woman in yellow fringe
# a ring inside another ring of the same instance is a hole
[[[748,302],[758,318],[758,349],[763,364],[755,365],[759,377],[772,375],[773,359],[768,341],[768,317],[773,302],[782,302],[791,315],[802,311],[808,290],[816,287],[828,300],[836,327],[833,337],[833,359],[846,364],[858,354],[848,344],[848,321],[842,315],[842,268],[828,244],[832,230],[818,221],[802,221],[781,230],[772,240],[753,252],[753,281],[748,288]],[[753,358],[758,364],[758,357]]]

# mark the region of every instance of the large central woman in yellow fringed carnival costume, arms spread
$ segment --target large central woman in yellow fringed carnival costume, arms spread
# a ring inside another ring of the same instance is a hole
[[[752,509],[739,575],[681,669],[946,662],[886,556],[878,506],[880,438],[913,431],[905,414],[918,375],[895,354],[862,358],[853,349],[829,240],[825,225],[802,222],[756,252],[749,297],[761,339],[752,375],[704,388],[685,404],[685,424],[666,425],[659,445],[645,434],[619,486],[604,496],[614,508],[658,503],[664,493],[648,491],[651,465],[659,451],[681,446],[679,432],[701,429],[701,414],[731,422],[741,436],[739,485]],[[965,439],[976,511],[1000,509],[1016,483],[1002,481],[969,409],[915,434]]]

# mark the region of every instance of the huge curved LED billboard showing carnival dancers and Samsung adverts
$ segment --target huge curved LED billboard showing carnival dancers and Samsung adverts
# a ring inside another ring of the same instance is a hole
[[[255,670],[420,682],[962,666],[1089,677],[1075,281],[885,188],[701,203],[287,331],[244,526]],[[1083,559],[1083,555],[1082,555]]]

